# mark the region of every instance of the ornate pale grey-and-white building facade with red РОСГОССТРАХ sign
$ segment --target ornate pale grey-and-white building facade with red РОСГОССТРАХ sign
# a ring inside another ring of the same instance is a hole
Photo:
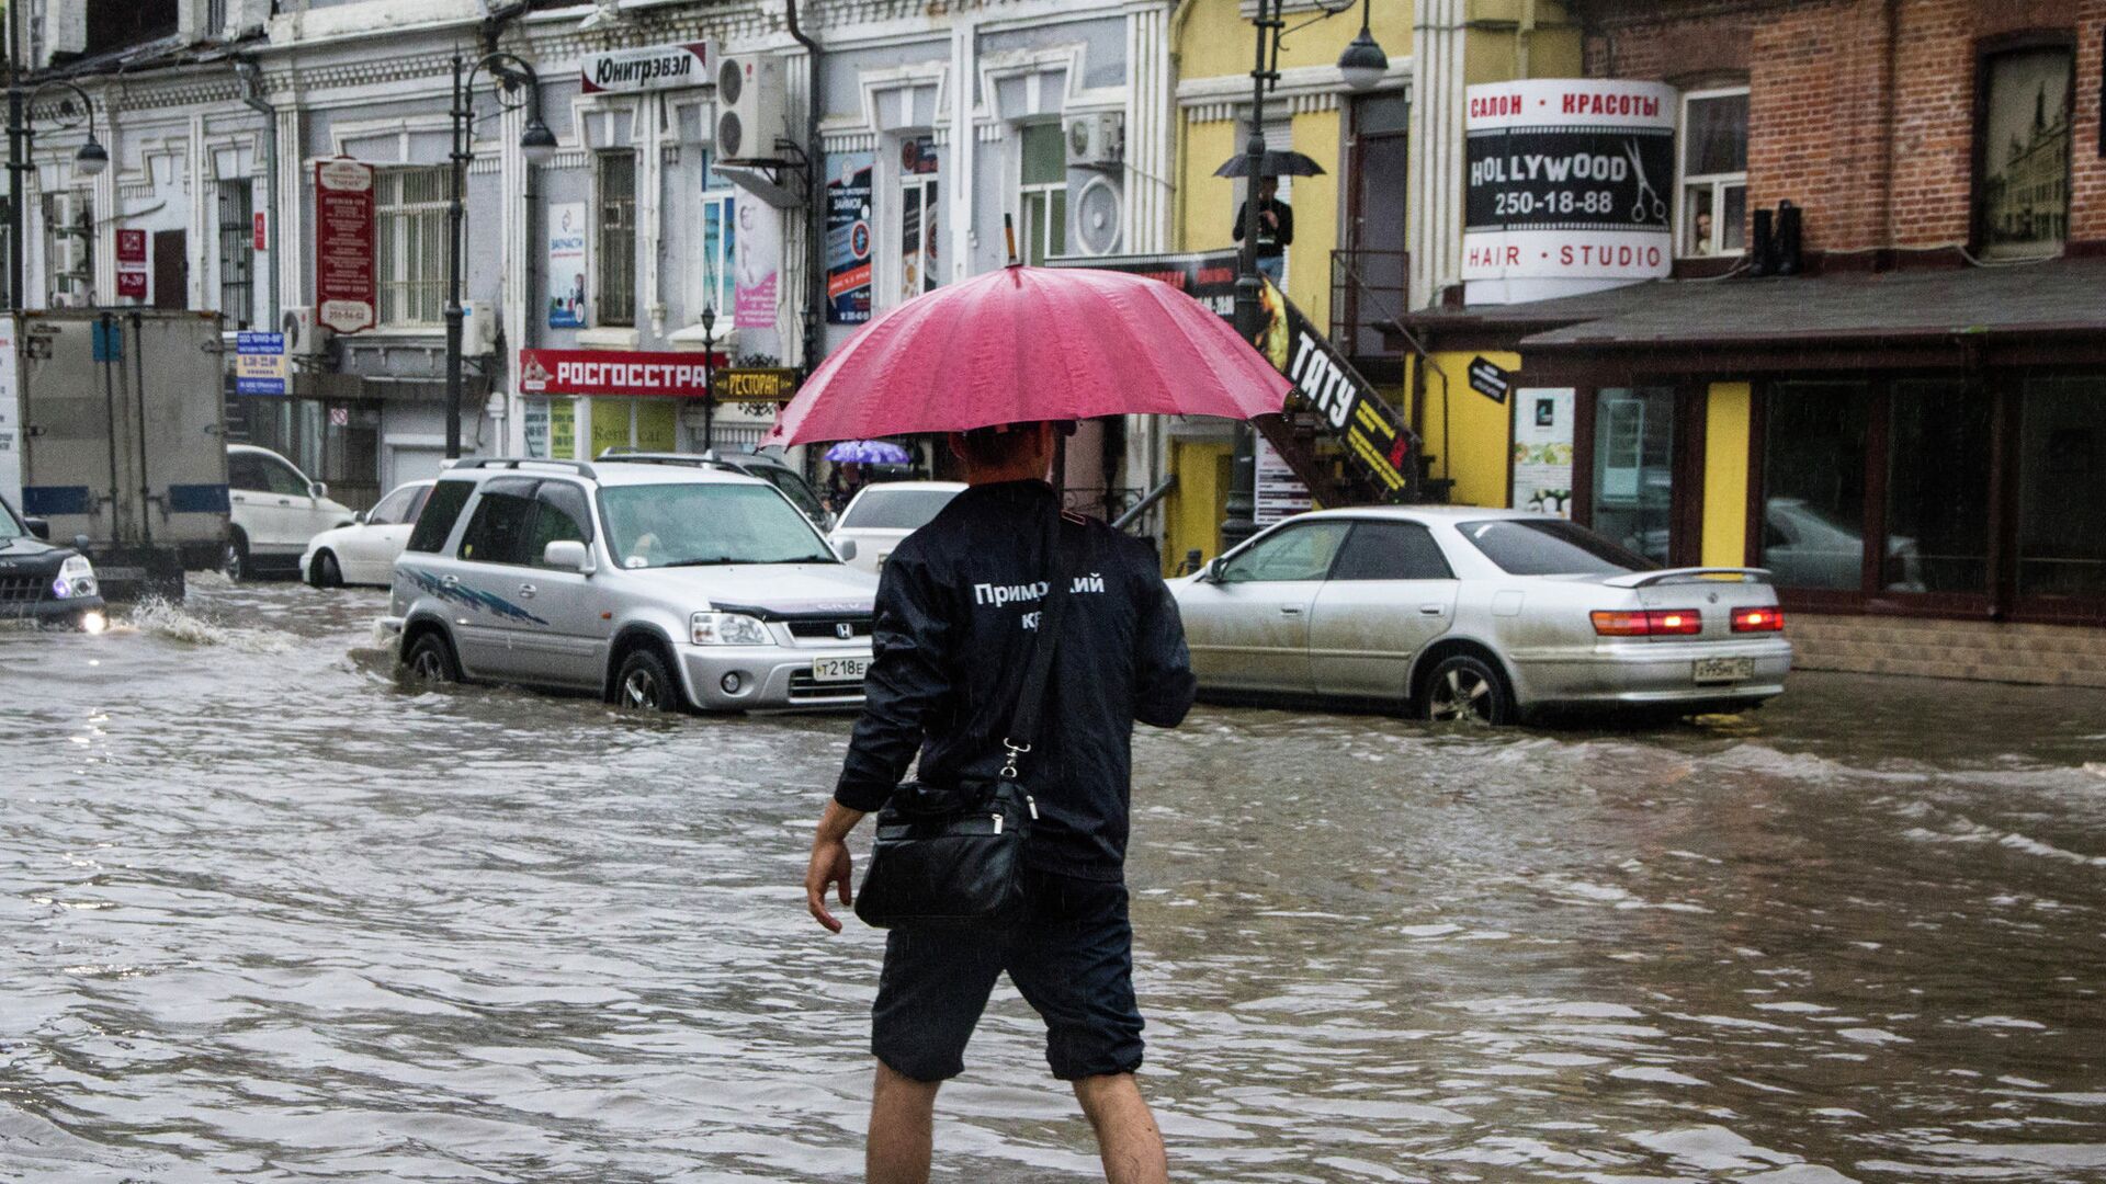
[[[872,314],[1002,265],[1005,219],[1030,261],[1163,246],[1169,15],[1167,0],[44,0],[19,8],[21,57],[36,82],[88,93],[112,166],[76,169],[86,126],[40,91],[25,303],[289,329],[289,394],[230,394],[234,438],[352,506],[430,476],[459,59],[461,451],[752,447],[773,402],[708,398],[703,356],[804,367]],[[678,55],[682,70],[636,65]],[[533,86],[505,84],[514,59]],[[767,101],[741,114],[764,143],[718,143],[724,63],[756,67]],[[520,143],[535,118],[556,139],[539,164]],[[331,333],[316,169],[345,158],[373,169],[373,324]],[[1074,453],[1072,482],[1099,504],[1154,466],[1139,449],[1129,476],[1116,423]]]

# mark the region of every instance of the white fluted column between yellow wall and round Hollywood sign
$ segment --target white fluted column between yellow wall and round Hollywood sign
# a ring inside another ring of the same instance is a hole
[[[1464,19],[1468,0],[1419,0],[1413,27],[1411,308],[1426,308],[1462,274]]]

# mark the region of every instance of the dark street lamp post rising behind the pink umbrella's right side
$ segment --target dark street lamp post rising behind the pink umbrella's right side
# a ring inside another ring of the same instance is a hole
[[[1236,251],[1236,333],[1257,341],[1266,327],[1264,280],[1257,276],[1257,179],[1266,158],[1266,91],[1280,80],[1280,38],[1291,32],[1283,13],[1287,0],[1257,0],[1251,23],[1257,27],[1257,61],[1251,65],[1251,135],[1243,141],[1243,246]],[[1299,27],[1352,11],[1352,0],[1333,8],[1316,2],[1318,15]],[[1360,36],[1337,59],[1346,86],[1367,91],[1382,82],[1390,59],[1369,32],[1373,0],[1360,0]],[[1257,533],[1257,432],[1236,423],[1236,451],[1228,470],[1228,518],[1221,522],[1221,550],[1234,548]]]

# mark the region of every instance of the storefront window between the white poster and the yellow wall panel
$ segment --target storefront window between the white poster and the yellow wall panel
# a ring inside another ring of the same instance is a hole
[[[1603,388],[1594,404],[1594,531],[1668,563],[1674,388]]]

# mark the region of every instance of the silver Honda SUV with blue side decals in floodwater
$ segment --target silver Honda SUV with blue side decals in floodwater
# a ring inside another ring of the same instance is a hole
[[[752,476],[480,459],[425,499],[383,628],[415,678],[638,710],[849,708],[876,590]]]

